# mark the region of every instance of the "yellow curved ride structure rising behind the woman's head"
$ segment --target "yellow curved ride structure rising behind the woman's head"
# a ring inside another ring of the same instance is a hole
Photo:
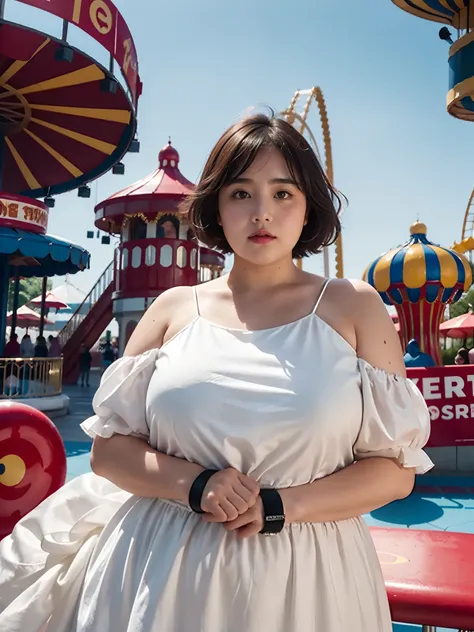
[[[319,118],[321,122],[321,133],[323,139],[323,155],[319,150],[318,142],[309,126],[308,118],[311,112],[312,106],[315,106],[319,112]],[[326,177],[330,184],[334,184],[334,169],[332,161],[332,147],[331,147],[331,133],[329,129],[329,119],[327,115],[326,102],[324,95],[319,87],[313,87],[309,90],[297,90],[291,99],[290,105],[286,110],[281,112],[281,116],[284,116],[288,123],[291,123],[300,134],[306,137],[311,147],[316,152],[321,165],[323,166]],[[329,249],[325,248],[323,251],[324,257],[324,276],[329,277],[330,262],[329,262]],[[301,267],[301,259],[298,261]],[[342,278],[344,276],[344,265],[342,258],[342,237],[339,237],[335,243],[335,263],[336,263],[336,277]]]

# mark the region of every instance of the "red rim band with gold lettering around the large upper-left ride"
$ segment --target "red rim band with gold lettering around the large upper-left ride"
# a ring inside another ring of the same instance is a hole
[[[111,0],[17,0],[75,24],[113,55],[126,80],[133,103],[140,96],[138,57],[133,38]]]

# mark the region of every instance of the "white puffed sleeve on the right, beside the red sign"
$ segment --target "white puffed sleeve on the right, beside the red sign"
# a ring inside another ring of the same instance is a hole
[[[356,460],[372,456],[398,459],[424,474],[433,462],[423,451],[430,436],[430,414],[417,387],[359,360],[362,425],[354,444]]]

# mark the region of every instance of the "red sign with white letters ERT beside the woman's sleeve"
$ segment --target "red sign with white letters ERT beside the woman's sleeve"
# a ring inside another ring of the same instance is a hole
[[[429,447],[474,445],[474,365],[407,369],[431,416]]]

